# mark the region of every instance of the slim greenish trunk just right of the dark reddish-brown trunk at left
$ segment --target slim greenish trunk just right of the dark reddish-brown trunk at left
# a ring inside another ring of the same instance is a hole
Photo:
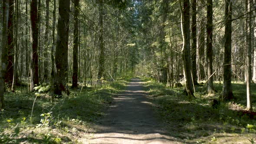
[[[44,34],[44,40],[46,43],[46,46],[44,47],[43,52],[43,65],[44,65],[44,75],[43,79],[48,82],[49,80],[49,68],[48,68],[48,46],[49,46],[49,0],[46,0],[46,16],[45,16],[45,34]]]

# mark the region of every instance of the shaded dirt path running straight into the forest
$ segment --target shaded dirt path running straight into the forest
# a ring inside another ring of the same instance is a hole
[[[142,81],[132,79],[127,90],[114,98],[107,115],[95,126],[96,132],[85,136],[85,144],[176,144],[167,136],[143,91]]]

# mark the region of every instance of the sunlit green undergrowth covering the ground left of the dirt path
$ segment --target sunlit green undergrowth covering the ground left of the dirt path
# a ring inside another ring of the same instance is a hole
[[[112,96],[122,92],[126,84],[118,80],[81,93],[81,87],[71,89],[69,96],[53,103],[49,94],[38,95],[35,100],[35,92],[26,92],[24,87],[18,87],[16,94],[6,92],[5,109],[0,111],[0,143],[78,143],[81,135],[92,131],[92,124],[105,115]]]

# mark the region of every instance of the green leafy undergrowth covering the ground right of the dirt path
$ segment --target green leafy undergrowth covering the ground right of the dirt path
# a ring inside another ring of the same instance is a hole
[[[220,95],[222,85],[215,85],[219,90],[216,95],[207,96],[203,87],[196,87],[196,97],[187,101],[183,94],[184,87],[166,88],[144,79],[144,87],[149,92],[152,102],[166,125],[170,135],[183,143],[204,144],[253,144],[256,142],[256,121],[237,110],[246,108],[246,86],[233,84],[236,99],[231,102],[221,102],[218,108],[212,108],[210,98]],[[252,86],[253,108],[256,108],[255,85]],[[204,90],[203,90],[204,91]]]

